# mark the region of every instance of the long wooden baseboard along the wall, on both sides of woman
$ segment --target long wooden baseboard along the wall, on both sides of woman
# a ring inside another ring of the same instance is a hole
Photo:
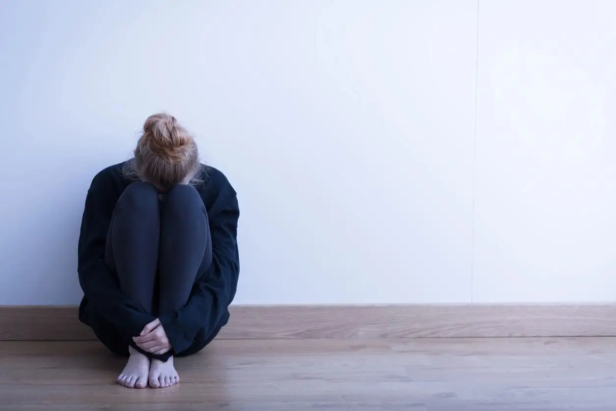
[[[616,336],[616,304],[232,306],[220,339]],[[0,306],[0,341],[94,340],[73,306]]]

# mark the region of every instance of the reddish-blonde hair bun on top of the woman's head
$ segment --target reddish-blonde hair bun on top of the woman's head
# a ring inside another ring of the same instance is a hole
[[[156,113],[145,120],[144,142],[152,153],[169,161],[179,161],[184,149],[193,144],[193,137],[167,113]]]

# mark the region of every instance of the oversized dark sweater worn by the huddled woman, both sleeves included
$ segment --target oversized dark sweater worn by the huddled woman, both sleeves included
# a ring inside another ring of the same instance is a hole
[[[79,283],[84,298],[79,319],[112,351],[127,354],[129,336],[137,336],[156,319],[120,290],[115,272],[105,265],[105,243],[116,201],[131,183],[122,174],[124,163],[100,171],[87,192],[78,245]],[[205,167],[198,192],[208,213],[213,262],[195,283],[188,303],[177,312],[161,315],[160,321],[172,345],[161,357],[190,354],[203,348],[229,320],[229,304],[237,290],[240,262],[237,195],[227,178],[215,168]],[[113,334],[115,331],[115,335]],[[128,340],[127,340],[128,338]]]

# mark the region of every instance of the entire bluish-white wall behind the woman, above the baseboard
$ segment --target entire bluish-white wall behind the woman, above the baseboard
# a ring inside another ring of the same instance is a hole
[[[612,2],[0,7],[0,304],[78,303],[158,110],[239,193],[236,303],[616,299]]]

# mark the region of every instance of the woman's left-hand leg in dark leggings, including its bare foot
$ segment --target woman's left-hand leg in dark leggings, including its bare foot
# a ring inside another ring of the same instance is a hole
[[[159,237],[160,205],[156,190],[141,182],[129,185],[113,212],[105,260],[117,272],[122,291],[148,311],[152,311]],[[128,350],[130,357],[118,383],[145,388],[150,359],[130,346]]]

